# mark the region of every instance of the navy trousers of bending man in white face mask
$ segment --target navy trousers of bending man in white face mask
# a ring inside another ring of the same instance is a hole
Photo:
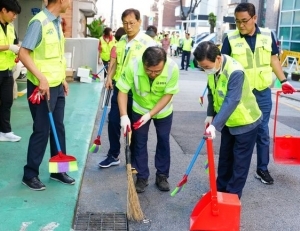
[[[227,126],[221,131],[217,190],[242,196],[245,186],[258,126],[244,134],[231,135]]]

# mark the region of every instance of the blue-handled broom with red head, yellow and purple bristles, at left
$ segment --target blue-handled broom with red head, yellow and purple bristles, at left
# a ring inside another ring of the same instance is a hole
[[[47,106],[48,106],[48,110],[49,110],[48,114],[49,114],[50,124],[51,124],[51,128],[52,128],[56,148],[58,151],[57,155],[51,157],[49,160],[49,172],[50,173],[61,173],[61,172],[77,171],[78,166],[77,166],[76,158],[74,156],[66,155],[61,151],[49,100],[47,100]]]

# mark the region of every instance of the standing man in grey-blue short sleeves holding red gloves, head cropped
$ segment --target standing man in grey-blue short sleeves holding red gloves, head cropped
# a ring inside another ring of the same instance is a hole
[[[69,87],[65,80],[65,39],[59,15],[65,13],[69,7],[70,1],[48,0],[47,7],[30,20],[19,52],[21,62],[28,69],[27,96],[35,95],[28,100],[33,119],[33,132],[29,139],[22,183],[35,191],[46,189],[39,178],[39,167],[46,151],[49,135],[51,157],[60,151],[57,150],[53,130],[50,129],[47,100],[53,111],[61,151],[66,153],[63,121],[65,96],[68,95]],[[46,99],[43,100],[43,97]],[[75,184],[75,179],[65,172],[51,173],[50,179],[67,185]]]

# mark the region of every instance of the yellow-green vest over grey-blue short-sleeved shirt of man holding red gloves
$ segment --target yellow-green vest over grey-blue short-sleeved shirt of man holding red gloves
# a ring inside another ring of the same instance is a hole
[[[29,24],[33,20],[39,20],[42,24],[42,40],[30,53],[30,56],[37,68],[47,78],[49,86],[56,87],[66,78],[65,38],[61,25],[59,25],[61,37],[59,40],[54,24],[49,21],[43,11],[35,15]],[[27,73],[27,78],[34,85],[39,85],[39,80],[30,71]]]

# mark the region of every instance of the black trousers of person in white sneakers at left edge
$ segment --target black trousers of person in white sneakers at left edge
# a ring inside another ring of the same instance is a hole
[[[10,109],[13,104],[14,79],[9,70],[0,71],[0,132],[11,132]]]

